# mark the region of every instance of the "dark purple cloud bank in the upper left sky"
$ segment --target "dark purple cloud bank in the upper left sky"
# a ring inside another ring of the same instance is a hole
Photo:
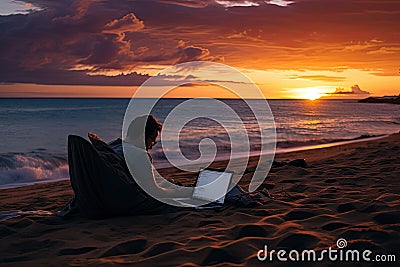
[[[142,32],[140,3],[119,4],[40,0],[41,11],[0,16],[0,82],[137,85],[148,78],[137,66],[214,59],[207,48]]]

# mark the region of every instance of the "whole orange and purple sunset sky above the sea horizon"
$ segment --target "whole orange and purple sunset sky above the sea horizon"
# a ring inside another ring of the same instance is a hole
[[[131,97],[193,60],[237,68],[267,98],[400,94],[397,0],[4,0],[0,10],[0,97]],[[230,96],[211,88],[170,96]]]

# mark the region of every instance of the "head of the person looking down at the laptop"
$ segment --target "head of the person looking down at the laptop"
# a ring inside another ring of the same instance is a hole
[[[139,144],[141,147],[144,145],[145,149],[149,150],[156,144],[156,139],[161,129],[161,123],[153,115],[142,115],[131,122],[125,140]]]

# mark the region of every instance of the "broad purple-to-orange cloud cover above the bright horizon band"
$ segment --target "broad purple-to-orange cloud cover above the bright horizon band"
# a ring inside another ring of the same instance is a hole
[[[399,1],[30,2],[42,10],[0,16],[0,82],[49,83],[54,74],[69,79],[59,84],[75,84],[86,73],[117,75],[191,60],[398,75]]]

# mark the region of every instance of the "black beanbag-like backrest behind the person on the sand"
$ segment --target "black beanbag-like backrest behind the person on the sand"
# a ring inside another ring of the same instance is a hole
[[[72,188],[81,215],[105,218],[118,215],[165,213],[173,207],[147,195],[130,175],[125,161],[106,143],[68,136]]]

